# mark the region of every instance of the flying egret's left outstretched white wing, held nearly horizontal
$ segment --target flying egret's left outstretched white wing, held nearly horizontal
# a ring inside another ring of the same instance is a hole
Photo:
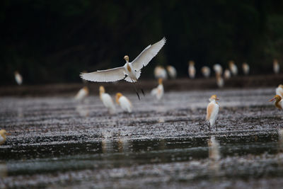
[[[80,76],[82,79],[88,81],[110,82],[124,79],[126,75],[124,67],[117,67],[113,69],[93,71],[91,73],[81,73]]]

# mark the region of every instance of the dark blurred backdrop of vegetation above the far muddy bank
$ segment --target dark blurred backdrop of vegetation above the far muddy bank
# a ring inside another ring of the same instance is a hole
[[[79,82],[80,71],[122,66],[164,36],[142,79],[157,64],[187,76],[190,59],[197,69],[248,62],[252,74],[282,60],[283,1],[1,0],[0,8],[1,84],[14,84],[15,70],[25,84]]]

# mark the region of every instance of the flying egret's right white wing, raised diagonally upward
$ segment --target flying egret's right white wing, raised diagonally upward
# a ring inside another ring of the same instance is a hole
[[[163,38],[162,40],[156,42],[154,45],[147,46],[141,52],[141,54],[139,54],[139,56],[137,56],[137,58],[134,59],[133,62],[131,62],[132,67],[138,71],[142,67],[145,67],[147,64],[149,64],[151,59],[153,59],[157,55],[159,50],[161,50],[165,42],[166,38]]]

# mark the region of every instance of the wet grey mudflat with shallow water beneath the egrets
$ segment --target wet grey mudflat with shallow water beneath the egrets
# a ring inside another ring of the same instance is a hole
[[[205,125],[220,98],[218,129]],[[279,188],[283,115],[274,88],[125,94],[134,112],[109,115],[98,96],[2,97],[0,188]],[[219,158],[209,156],[214,136]]]

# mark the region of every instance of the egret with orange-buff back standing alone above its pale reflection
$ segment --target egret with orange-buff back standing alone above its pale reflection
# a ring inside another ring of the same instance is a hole
[[[219,99],[216,97],[216,95],[212,95],[209,98],[210,103],[207,105],[207,120],[209,121],[210,127],[214,125],[217,119],[217,115],[219,112],[219,104],[216,101],[218,100]],[[216,130],[217,130],[217,125],[216,125]]]

